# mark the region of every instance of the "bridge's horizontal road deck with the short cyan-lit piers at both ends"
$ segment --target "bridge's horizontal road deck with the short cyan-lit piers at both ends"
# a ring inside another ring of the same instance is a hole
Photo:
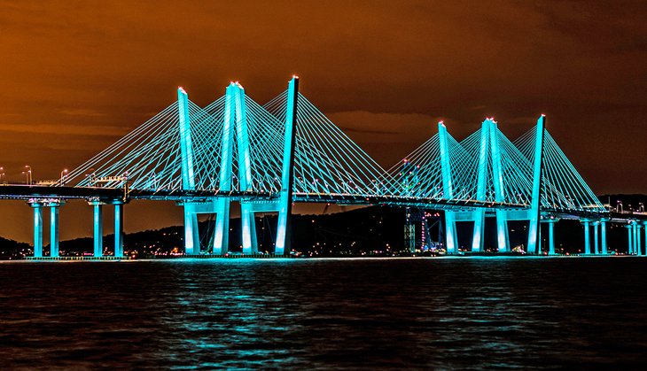
[[[503,211],[507,220],[527,220],[529,205],[516,205],[507,203],[488,203],[475,200],[447,200],[409,196],[390,195],[349,195],[349,194],[317,194],[293,193],[292,202],[304,203],[331,203],[338,205],[390,205],[394,207],[420,207],[426,209],[446,210],[452,212],[456,221],[473,221],[473,211],[483,210],[495,213],[498,218]],[[244,204],[267,203],[272,205],[278,192],[246,192],[246,191],[215,191],[215,190],[171,190],[171,189],[128,189],[104,187],[64,187],[44,185],[3,185],[0,186],[0,199],[24,200],[34,209],[35,220],[35,258],[43,256],[43,225],[42,210],[44,207],[51,209],[51,256],[58,257],[58,207],[71,199],[87,201],[94,208],[94,256],[103,254],[103,217],[102,205],[113,205],[115,231],[115,256],[123,255],[123,207],[131,199],[146,199],[152,201],[175,201],[179,205],[199,207],[200,203],[214,201],[215,199],[238,200]],[[220,201],[219,201],[220,202]],[[229,201],[228,201],[229,202]],[[194,204],[196,203],[196,204]],[[261,206],[261,209],[263,207]],[[271,209],[271,207],[270,207]],[[195,211],[195,210],[194,210]],[[554,225],[560,219],[577,219],[584,225],[585,254],[594,254],[598,251],[599,241],[602,241],[601,251],[606,251],[605,223],[622,223],[628,228],[630,254],[641,254],[640,230],[647,226],[647,213],[599,213],[573,210],[546,210],[542,208],[542,221],[548,222],[550,231],[550,254],[554,254]],[[494,215],[493,215],[494,216]],[[590,228],[593,228],[594,243],[591,250]],[[602,237],[598,238],[598,228],[601,228]],[[604,252],[603,252],[604,253]]]

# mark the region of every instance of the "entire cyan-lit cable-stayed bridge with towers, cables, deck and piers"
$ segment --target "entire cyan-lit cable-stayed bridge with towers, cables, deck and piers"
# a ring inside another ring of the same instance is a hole
[[[0,197],[34,209],[35,257],[43,255],[43,207],[50,207],[51,256],[58,256],[58,209],[69,198],[94,207],[95,256],[103,253],[104,205],[115,207],[115,256],[123,254],[123,205],[130,199],[174,200],[184,210],[187,255],[229,248],[232,201],[240,205],[243,251],[258,251],[254,213],[277,213],[275,252],[291,249],[293,203],[415,206],[444,211],[444,246],[458,252],[456,223],[473,223],[471,251],[483,251],[486,217],[496,220],[498,251],[510,251],[507,223],[528,221],[526,251],[542,253],[540,223],[579,219],[585,253],[606,253],[606,223],[615,217],[596,198],[545,128],[509,140],[494,118],[458,142],[443,122],[438,133],[389,168],[345,135],[299,92],[266,104],[238,82],[206,107],[179,88],[177,100],[50,187],[0,187]],[[215,214],[211,246],[200,246],[198,214]],[[630,252],[640,253],[643,220],[625,218]],[[594,243],[590,242],[590,228]],[[601,237],[598,236],[598,229]],[[599,243],[601,241],[601,243]]]

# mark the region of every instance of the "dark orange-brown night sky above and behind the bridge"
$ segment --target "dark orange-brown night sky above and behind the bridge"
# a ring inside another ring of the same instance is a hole
[[[647,193],[644,1],[349,3],[0,1],[0,166],[16,182],[25,165],[58,178],[177,86],[207,105],[240,81],[263,104],[296,73],[382,166],[437,120],[460,140],[494,116],[514,140],[545,113],[597,194]],[[0,205],[0,236],[31,239],[21,204]],[[61,211],[63,239],[90,236],[90,207],[75,204]],[[181,213],[129,205],[126,231]]]

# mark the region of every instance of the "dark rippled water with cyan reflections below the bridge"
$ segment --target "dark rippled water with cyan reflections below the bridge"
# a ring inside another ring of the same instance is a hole
[[[647,367],[647,259],[0,263],[0,369]]]

